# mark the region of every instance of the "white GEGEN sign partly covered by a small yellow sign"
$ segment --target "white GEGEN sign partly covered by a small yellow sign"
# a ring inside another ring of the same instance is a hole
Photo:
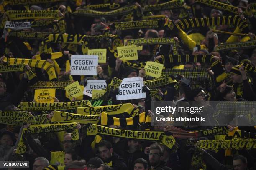
[[[87,85],[84,87],[84,95],[92,97],[92,89],[105,90],[106,88],[106,80],[87,80]]]

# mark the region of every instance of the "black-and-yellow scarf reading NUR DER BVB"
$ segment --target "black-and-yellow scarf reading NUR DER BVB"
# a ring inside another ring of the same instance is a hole
[[[54,103],[38,103],[38,102],[21,102],[18,110],[36,111],[36,110],[70,110],[77,107],[90,107],[88,100],[76,102],[54,102]]]

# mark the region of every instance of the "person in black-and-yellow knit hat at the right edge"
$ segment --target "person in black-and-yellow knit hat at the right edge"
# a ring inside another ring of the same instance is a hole
[[[248,81],[246,76],[246,70],[244,66],[235,65],[232,67],[231,71],[231,80],[233,82],[234,91],[236,93],[236,98],[243,98],[246,100],[255,100],[256,95],[253,91],[253,87]]]

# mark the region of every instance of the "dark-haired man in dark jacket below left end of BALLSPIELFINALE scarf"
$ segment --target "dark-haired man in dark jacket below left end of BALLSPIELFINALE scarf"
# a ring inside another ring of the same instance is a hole
[[[113,147],[110,142],[103,140],[98,145],[98,151],[103,162],[114,170],[128,170],[123,158],[113,152]]]

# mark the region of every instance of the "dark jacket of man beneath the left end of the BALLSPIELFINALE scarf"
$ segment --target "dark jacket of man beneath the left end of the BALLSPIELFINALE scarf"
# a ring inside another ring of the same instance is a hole
[[[120,157],[118,154],[114,153],[110,158],[107,160],[103,160],[105,164],[111,166],[111,161],[112,161],[112,168],[114,170],[128,170],[127,165],[125,164],[125,161],[123,160],[122,157]]]

